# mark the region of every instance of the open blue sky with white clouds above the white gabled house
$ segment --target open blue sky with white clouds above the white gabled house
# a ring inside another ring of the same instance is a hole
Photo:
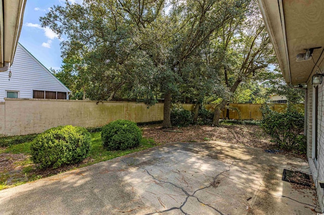
[[[68,1],[82,2],[82,0]],[[30,0],[26,3],[19,42],[48,69],[52,67],[57,70],[62,65],[60,40],[51,29],[41,27],[39,17],[45,16],[54,5],[64,5],[64,2],[64,0]]]

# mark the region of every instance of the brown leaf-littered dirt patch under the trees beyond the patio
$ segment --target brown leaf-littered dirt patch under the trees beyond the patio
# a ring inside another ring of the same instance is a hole
[[[169,129],[173,132],[164,132],[161,125],[144,126],[142,129],[144,137],[152,138],[159,144],[213,140],[262,149],[273,149],[275,147],[275,144],[270,142],[270,137],[256,125],[222,125],[220,127],[193,125]]]

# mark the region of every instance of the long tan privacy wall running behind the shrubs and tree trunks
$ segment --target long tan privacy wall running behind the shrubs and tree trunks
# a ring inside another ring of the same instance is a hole
[[[230,111],[230,119],[261,119],[261,104],[230,104],[238,111]],[[303,104],[300,104],[303,108]],[[183,104],[192,110],[193,104]],[[274,104],[274,110],[284,110],[286,104]],[[206,105],[213,111],[213,105]],[[221,118],[226,116],[224,110]],[[0,134],[25,135],[41,133],[59,125],[99,127],[126,119],[133,122],[163,120],[163,103],[149,109],[144,103],[119,101],[83,101],[53,99],[6,99],[0,102]]]

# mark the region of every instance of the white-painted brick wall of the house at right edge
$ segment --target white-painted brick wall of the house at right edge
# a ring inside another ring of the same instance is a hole
[[[324,67],[321,65],[321,70]],[[318,113],[317,113],[317,160],[314,159],[313,154],[313,91],[314,86],[311,85],[311,80],[307,84],[307,157],[309,160],[309,166],[312,172],[315,187],[317,189],[317,197],[319,200],[319,207],[321,211],[324,211],[324,191],[320,188],[318,181],[324,181],[324,83],[318,85]]]

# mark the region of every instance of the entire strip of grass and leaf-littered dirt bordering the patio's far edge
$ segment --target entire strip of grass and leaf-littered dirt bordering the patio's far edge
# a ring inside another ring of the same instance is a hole
[[[0,147],[0,189],[89,166],[169,142],[220,141],[262,149],[278,149],[277,144],[271,142],[271,137],[260,126],[253,125],[251,122],[242,124],[233,120],[224,120],[219,127],[209,125],[175,126],[169,130],[171,132],[166,132],[161,124],[145,124],[140,126],[140,129],[143,132],[143,138],[139,146],[126,150],[107,150],[102,144],[101,132],[92,132],[89,156],[78,164],[61,166],[57,169],[39,169],[33,164],[30,157],[31,141]],[[92,129],[92,131],[96,130]],[[304,157],[304,155],[295,154],[285,149],[280,149],[278,153]]]

